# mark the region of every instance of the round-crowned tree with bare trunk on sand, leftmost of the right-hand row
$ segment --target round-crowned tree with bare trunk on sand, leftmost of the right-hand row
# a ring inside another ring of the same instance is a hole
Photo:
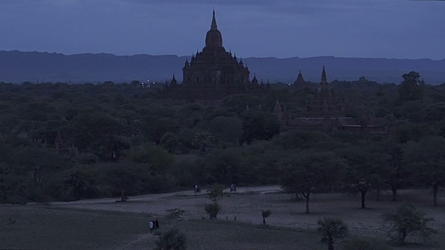
[[[302,194],[309,213],[309,197],[314,190],[330,188],[337,181],[334,173],[343,168],[343,162],[330,152],[300,151],[280,163],[281,185],[285,192]]]

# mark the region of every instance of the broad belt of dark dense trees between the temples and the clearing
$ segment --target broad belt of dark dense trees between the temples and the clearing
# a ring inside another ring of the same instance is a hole
[[[363,103],[394,138],[280,133],[278,100],[302,116],[316,85],[273,84],[264,97],[235,94],[220,105],[160,99],[133,84],[0,83],[0,202],[124,197],[195,184],[277,184],[309,200],[315,192],[362,197],[443,185],[445,85],[333,81],[346,103]],[[357,110],[346,110],[359,117]],[[63,144],[56,147],[56,138]]]

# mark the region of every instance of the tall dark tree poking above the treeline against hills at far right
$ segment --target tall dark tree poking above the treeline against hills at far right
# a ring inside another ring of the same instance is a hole
[[[423,98],[423,89],[420,86],[420,74],[410,72],[403,74],[403,81],[398,87],[398,95],[401,101],[414,101]]]

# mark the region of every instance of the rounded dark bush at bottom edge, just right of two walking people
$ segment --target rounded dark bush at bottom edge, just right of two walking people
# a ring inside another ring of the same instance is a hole
[[[187,238],[178,228],[170,228],[167,231],[161,231],[156,240],[156,250],[186,250]]]

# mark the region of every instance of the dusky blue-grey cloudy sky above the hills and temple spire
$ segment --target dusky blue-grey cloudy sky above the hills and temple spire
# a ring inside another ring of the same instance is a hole
[[[0,50],[191,56],[213,8],[238,58],[445,58],[445,1],[0,0]]]

